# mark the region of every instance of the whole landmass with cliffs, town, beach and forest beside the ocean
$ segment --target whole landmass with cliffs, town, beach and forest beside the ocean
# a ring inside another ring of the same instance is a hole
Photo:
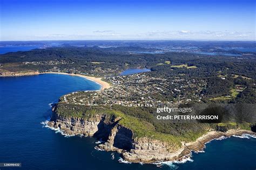
[[[55,73],[99,83],[101,90],[61,96],[48,126],[100,139],[97,149],[116,151],[131,162],[183,160],[215,138],[255,135],[256,122],[246,112],[242,121],[212,123],[156,122],[154,112],[165,105],[255,104],[256,54],[243,55],[241,62],[240,56],[132,50],[62,47],[6,53],[0,55],[0,76]],[[120,75],[129,68],[151,72]]]

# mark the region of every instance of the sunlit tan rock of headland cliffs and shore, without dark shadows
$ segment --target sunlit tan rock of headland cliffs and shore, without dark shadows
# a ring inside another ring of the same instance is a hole
[[[104,130],[98,129],[98,124],[100,122],[100,119],[102,118],[96,118],[96,119],[90,119],[84,120],[83,118],[72,118],[71,117],[65,117],[65,116],[58,116],[54,115],[56,114],[55,108],[53,110],[53,119],[51,119],[46,124],[51,128],[59,128],[60,131],[63,132],[63,134],[73,136],[73,135],[83,135],[85,137],[92,136],[96,139],[97,136],[94,136],[96,132],[99,132],[103,135]],[[75,124],[74,124],[75,120]],[[81,124],[80,122],[83,122]],[[85,123],[86,122],[86,123]],[[74,124],[74,125],[73,125]],[[125,128],[125,126],[123,126]],[[127,129],[127,128],[126,128]],[[242,129],[231,129],[226,132],[216,131],[216,130],[209,130],[207,133],[203,134],[199,138],[197,138],[195,141],[191,141],[189,143],[185,143],[185,141],[181,141],[181,146],[179,148],[174,150],[161,150],[158,146],[161,145],[161,141],[159,140],[151,140],[150,138],[144,137],[140,138],[138,140],[135,140],[134,138],[131,138],[131,140],[127,141],[127,143],[132,143],[137,145],[137,147],[132,148],[131,150],[125,150],[125,148],[122,147],[116,147],[113,145],[113,141],[119,140],[116,138],[116,132],[118,131],[117,126],[115,128],[111,129],[111,134],[106,134],[107,139],[104,140],[99,145],[95,146],[96,150],[100,151],[106,151],[106,152],[116,152],[120,154],[120,157],[127,162],[132,163],[143,163],[143,164],[162,164],[164,162],[184,162],[188,159],[191,159],[192,153],[200,153],[204,152],[204,149],[206,147],[206,144],[210,143],[212,140],[222,140],[226,138],[230,138],[232,136],[238,137],[242,136],[243,134],[250,134],[253,137],[256,137],[256,133],[251,130],[242,130]],[[122,132],[120,132],[122,133]],[[122,134],[126,134],[123,133]],[[121,134],[120,134],[121,135]],[[126,142],[126,141],[125,141]],[[151,147],[147,147],[151,146]],[[152,149],[152,147],[155,147]]]

